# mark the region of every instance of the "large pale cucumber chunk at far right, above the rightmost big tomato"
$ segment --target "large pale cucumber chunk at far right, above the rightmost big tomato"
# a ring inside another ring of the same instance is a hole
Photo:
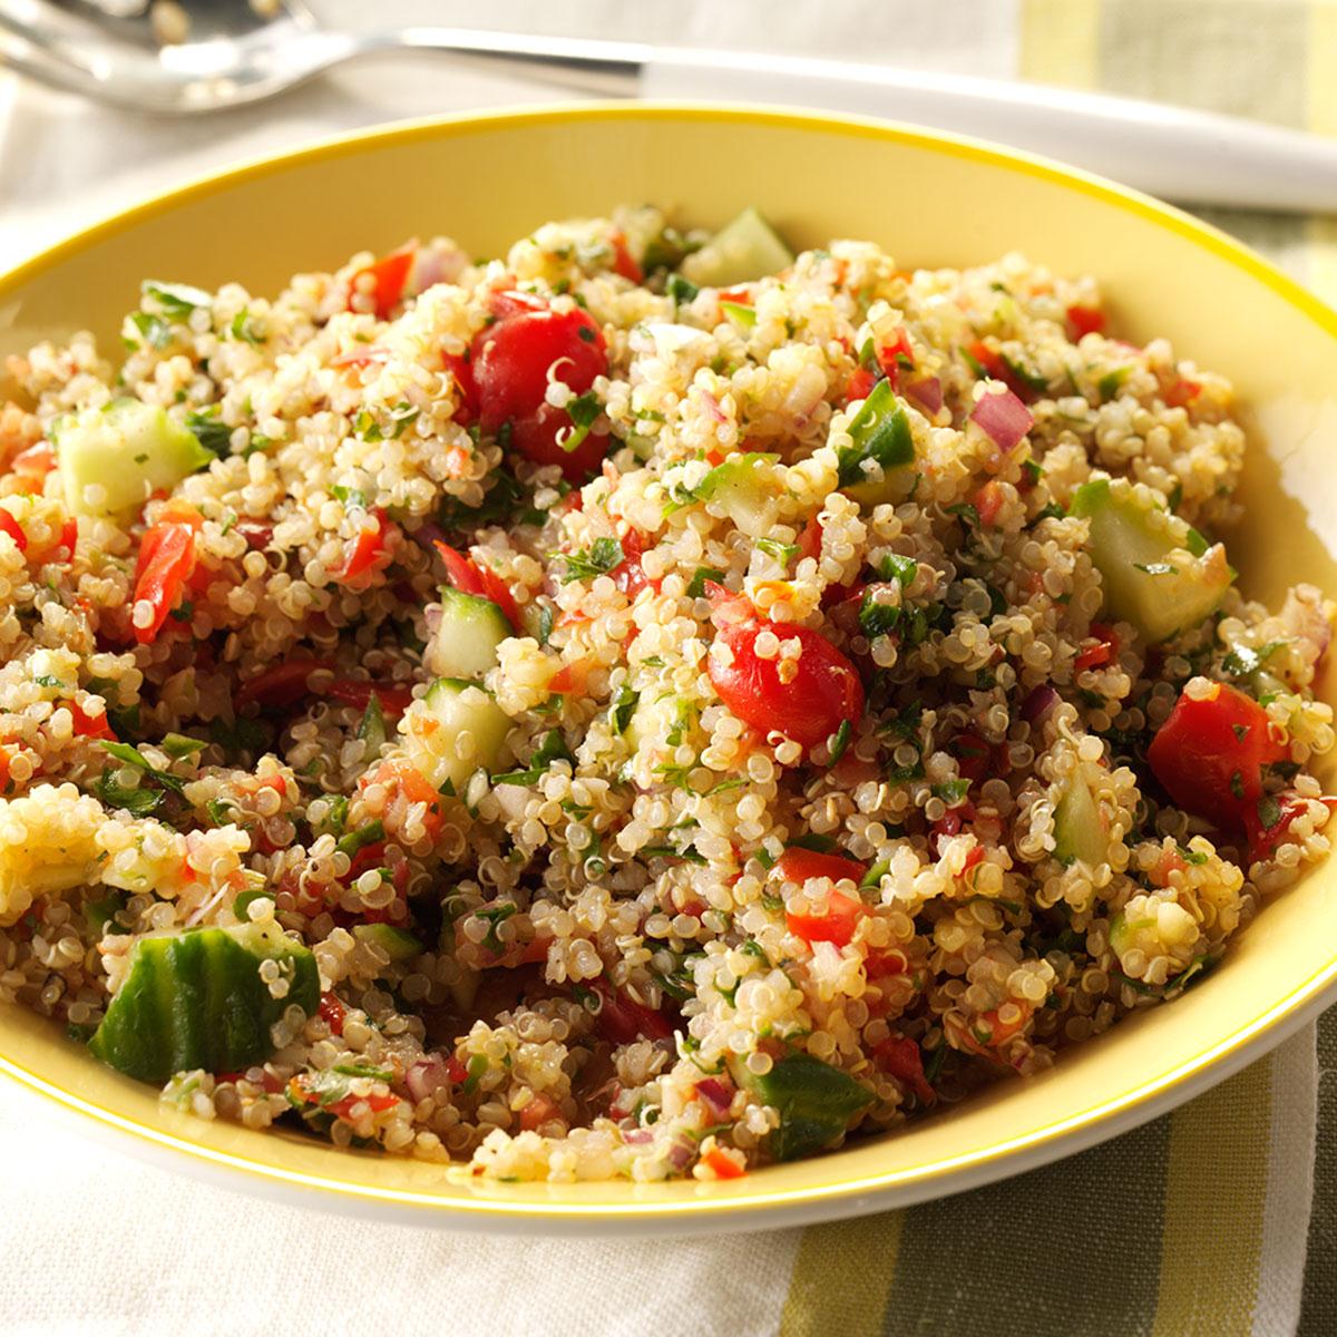
[[[1234,579],[1219,543],[1203,548],[1183,520],[1140,501],[1124,479],[1083,484],[1070,513],[1090,525],[1107,615],[1132,623],[1150,642],[1195,627]]]

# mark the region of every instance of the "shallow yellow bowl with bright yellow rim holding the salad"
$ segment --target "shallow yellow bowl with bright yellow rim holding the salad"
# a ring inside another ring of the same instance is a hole
[[[414,233],[495,254],[548,218],[640,201],[706,225],[755,203],[797,246],[869,238],[905,265],[977,263],[1020,249],[1098,275],[1118,332],[1167,336],[1182,356],[1230,376],[1249,406],[1249,513],[1229,536],[1245,590],[1275,599],[1305,579],[1337,591],[1337,314],[1183,214],[923,131],[754,110],[586,106],[352,135],[190,185],[0,278],[0,353],[78,329],[114,350],[143,277],[273,291],[291,273]],[[1321,689],[1333,699],[1330,681]],[[19,1008],[0,1008],[0,1068],[132,1134],[119,1139],[126,1146],[306,1202],[455,1227],[755,1227],[900,1206],[1090,1146],[1255,1059],[1334,987],[1337,862],[1267,905],[1199,988],[1062,1055],[1051,1072],[1001,1082],[890,1138],[711,1185],[485,1185],[459,1170],[193,1120]]]

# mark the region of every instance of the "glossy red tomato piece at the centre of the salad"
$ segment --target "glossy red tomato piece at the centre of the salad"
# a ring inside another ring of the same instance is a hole
[[[804,747],[825,742],[840,726],[856,725],[864,714],[864,685],[854,666],[821,632],[809,627],[771,626],[746,600],[726,595],[717,584],[706,594],[715,606],[717,640],[730,654],[725,663],[715,655],[706,660],[710,682],[719,699],[745,723],[762,733],[778,729]],[[746,611],[743,611],[746,610]],[[779,659],[762,659],[757,638],[770,631],[781,640],[797,639],[796,674],[779,677]]]

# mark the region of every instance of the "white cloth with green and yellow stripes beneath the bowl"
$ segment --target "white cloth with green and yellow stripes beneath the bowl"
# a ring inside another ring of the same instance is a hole
[[[435,5],[396,8],[398,19],[441,19]],[[858,52],[1337,134],[1333,3],[826,0],[786,9],[782,31],[766,0],[678,0],[652,12],[584,0],[556,17],[552,8],[493,0],[488,21]],[[28,92],[7,123],[0,86],[0,247],[12,255],[49,239],[41,234],[57,214],[59,226],[72,226],[67,190],[80,172],[88,207],[106,209],[120,202],[118,190],[132,197],[170,182],[172,154],[178,174],[201,171],[281,143],[283,126],[293,139],[390,115],[550,98],[472,74],[452,74],[447,92],[431,67],[396,70],[393,96],[374,80],[328,83],[306,102],[241,114],[230,131],[146,122],[118,130],[103,112]],[[417,102],[406,100],[414,88]],[[366,100],[353,100],[354,90]],[[47,143],[40,163],[35,132]],[[90,172],[92,162],[99,171]],[[150,162],[152,180],[140,166]],[[20,214],[17,187],[35,183]],[[1337,221],[1225,210],[1211,221],[1337,302]],[[357,1337],[1337,1333],[1337,1011],[1207,1095],[1095,1150],[941,1202],[806,1230],[582,1242],[360,1223],[111,1155],[9,1090],[0,1091],[0,1165],[5,1333],[249,1334],[314,1322]]]

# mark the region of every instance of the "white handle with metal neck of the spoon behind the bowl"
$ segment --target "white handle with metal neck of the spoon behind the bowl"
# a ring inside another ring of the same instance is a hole
[[[586,92],[821,107],[995,139],[1193,205],[1337,213],[1337,140],[1163,103],[857,62],[410,28]]]

